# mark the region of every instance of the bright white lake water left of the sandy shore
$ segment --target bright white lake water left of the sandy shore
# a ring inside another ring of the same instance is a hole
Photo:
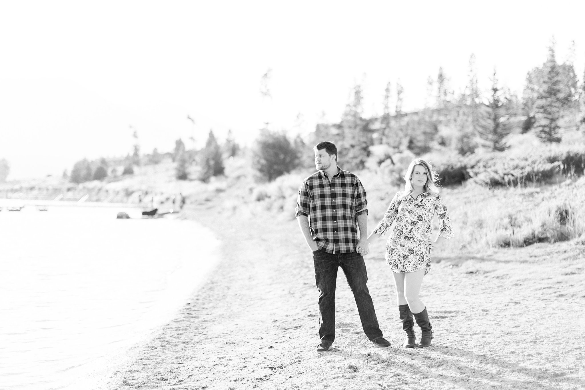
[[[0,388],[92,388],[217,264],[219,241],[198,223],[121,210],[0,212]]]

